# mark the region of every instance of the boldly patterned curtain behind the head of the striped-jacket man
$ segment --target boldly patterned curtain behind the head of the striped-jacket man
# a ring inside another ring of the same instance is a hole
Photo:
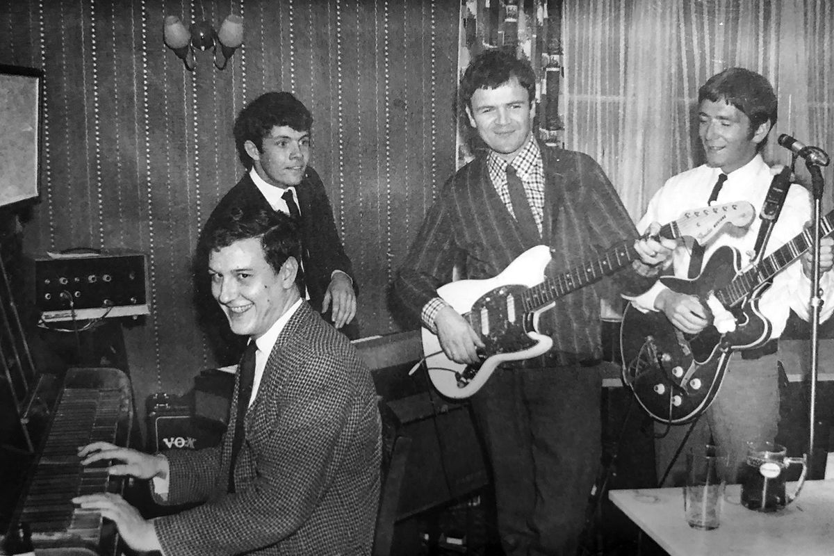
[[[560,117],[562,79],[562,0],[464,0],[460,4],[458,76],[470,60],[488,48],[513,48],[525,58],[539,83],[536,85],[536,123],[546,143],[562,144]],[[464,107],[458,107],[457,168],[473,158],[472,130]]]

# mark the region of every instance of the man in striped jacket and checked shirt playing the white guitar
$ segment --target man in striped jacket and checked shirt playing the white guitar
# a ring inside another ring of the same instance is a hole
[[[549,270],[567,270],[637,236],[594,160],[533,137],[534,96],[530,64],[512,53],[487,51],[470,63],[459,105],[485,148],[445,183],[395,283],[405,308],[457,363],[476,363],[484,343],[438,297],[455,261],[463,261],[465,278],[491,278],[545,243]],[[615,284],[642,292],[673,247],[636,242],[642,260],[615,273]],[[601,452],[601,377],[591,366],[601,355],[600,285],[557,300],[541,313],[538,330],[553,348],[502,364],[472,403],[492,463],[505,553],[572,556]]]

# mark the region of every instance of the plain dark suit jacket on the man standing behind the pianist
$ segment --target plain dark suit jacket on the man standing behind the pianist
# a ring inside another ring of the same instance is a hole
[[[304,179],[295,187],[295,192],[299,197],[302,220],[301,243],[304,245],[304,253],[301,258],[304,263],[304,280],[309,293],[309,303],[320,313],[324,293],[334,270],[347,273],[354,281],[354,289],[358,291],[356,278],[353,265],[344,253],[339,239],[333,209],[330,208],[327,191],[319,174],[313,168],[307,167]],[[208,217],[209,222],[215,218],[215,214],[223,213],[234,205],[270,208],[269,202],[249,177],[249,172],[220,199],[212,215]]]

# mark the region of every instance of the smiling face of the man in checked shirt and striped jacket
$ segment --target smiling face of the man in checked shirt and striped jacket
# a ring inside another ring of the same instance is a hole
[[[530,137],[535,108],[530,105],[527,89],[512,77],[494,89],[477,89],[466,114],[484,143],[510,161]]]

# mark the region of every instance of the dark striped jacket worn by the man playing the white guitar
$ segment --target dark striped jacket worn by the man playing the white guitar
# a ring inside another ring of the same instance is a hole
[[[545,171],[542,243],[550,245],[552,275],[597,258],[616,243],[637,237],[631,218],[602,168],[584,153],[539,144]],[[444,185],[415,238],[394,288],[412,314],[452,279],[456,261],[465,278],[492,278],[535,243],[525,241],[518,223],[495,191],[480,156]],[[554,339],[550,355],[559,364],[593,363],[601,357],[600,294],[610,287],[643,292],[651,280],[628,265],[614,283],[581,288],[542,313],[539,330]]]

